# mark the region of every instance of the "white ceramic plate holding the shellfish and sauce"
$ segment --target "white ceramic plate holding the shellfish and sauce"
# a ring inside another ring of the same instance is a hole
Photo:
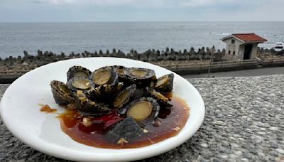
[[[126,149],[94,148],[73,141],[60,129],[60,121],[55,118],[57,114],[40,112],[38,106],[38,103],[49,104],[58,112],[64,111],[54,102],[50,81],[66,82],[66,72],[73,65],[82,65],[89,70],[106,65],[150,68],[155,70],[157,77],[171,72],[150,63],[124,58],[64,60],[27,72],[6,90],[0,112],[11,133],[38,151],[72,161],[133,161],[170,151],[190,139],[202,124],[205,111],[202,97],[190,82],[175,74],[173,93],[190,106],[190,117],[177,136],[151,146]]]

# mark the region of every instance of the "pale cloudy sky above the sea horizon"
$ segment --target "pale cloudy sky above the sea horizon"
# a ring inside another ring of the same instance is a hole
[[[284,0],[0,0],[0,22],[284,21]]]

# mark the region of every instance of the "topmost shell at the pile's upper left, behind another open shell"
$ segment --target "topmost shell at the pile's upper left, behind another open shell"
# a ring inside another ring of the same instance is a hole
[[[82,66],[72,66],[67,72],[67,81],[73,77],[86,77],[91,75],[91,71]]]

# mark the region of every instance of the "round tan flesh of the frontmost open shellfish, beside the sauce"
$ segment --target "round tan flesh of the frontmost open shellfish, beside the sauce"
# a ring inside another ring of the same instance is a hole
[[[133,117],[136,121],[143,121],[152,113],[153,106],[151,102],[137,102],[129,108],[127,112],[128,117]]]

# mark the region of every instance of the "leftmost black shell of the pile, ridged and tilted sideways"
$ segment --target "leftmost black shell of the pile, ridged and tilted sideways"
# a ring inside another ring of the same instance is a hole
[[[66,90],[65,91],[62,90],[60,86],[64,86]],[[66,105],[74,102],[74,99],[71,95],[71,91],[66,92],[69,89],[67,85],[65,85],[65,83],[60,82],[58,80],[53,80],[50,82],[50,87],[51,87],[51,92],[53,92],[53,98],[57,104]]]

